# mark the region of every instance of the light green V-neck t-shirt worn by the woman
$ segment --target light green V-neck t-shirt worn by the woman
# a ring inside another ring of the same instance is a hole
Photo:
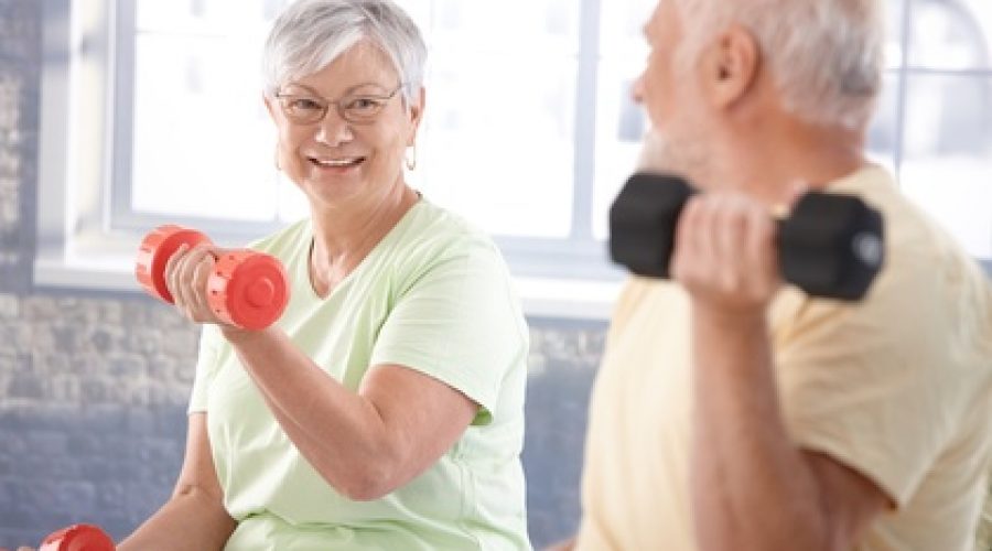
[[[207,412],[224,504],[238,521],[225,549],[530,549],[519,458],[527,327],[496,247],[421,199],[320,299],[311,241],[303,220],[254,246],[279,258],[292,282],[279,328],[348,389],[369,367],[398,364],[460,390],[479,412],[421,475],[353,501],[296,451],[230,346],[205,327],[190,412]]]

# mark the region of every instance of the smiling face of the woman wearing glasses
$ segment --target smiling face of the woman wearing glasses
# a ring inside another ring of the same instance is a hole
[[[389,58],[360,41],[321,71],[267,98],[279,131],[279,165],[311,205],[376,202],[402,182],[422,95],[407,105]]]

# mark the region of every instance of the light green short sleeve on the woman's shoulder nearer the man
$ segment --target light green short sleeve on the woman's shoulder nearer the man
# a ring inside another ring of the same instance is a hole
[[[524,368],[527,333],[495,247],[473,239],[456,249],[398,298],[370,365],[401,365],[449,385],[481,406],[473,424],[487,424],[507,374]]]

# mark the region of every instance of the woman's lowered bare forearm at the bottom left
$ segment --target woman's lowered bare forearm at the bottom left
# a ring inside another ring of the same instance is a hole
[[[224,549],[237,523],[216,496],[197,488],[177,491],[118,551],[213,551]]]

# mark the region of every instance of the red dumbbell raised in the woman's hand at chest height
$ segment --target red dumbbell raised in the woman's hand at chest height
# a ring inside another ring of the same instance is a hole
[[[138,251],[138,282],[152,296],[172,304],[165,287],[165,262],[183,244],[192,248],[209,242],[195,229],[173,225],[155,228]],[[217,317],[246,329],[261,329],[282,315],[289,301],[289,282],[279,260],[254,250],[231,251],[216,260],[207,281],[207,301]]]

